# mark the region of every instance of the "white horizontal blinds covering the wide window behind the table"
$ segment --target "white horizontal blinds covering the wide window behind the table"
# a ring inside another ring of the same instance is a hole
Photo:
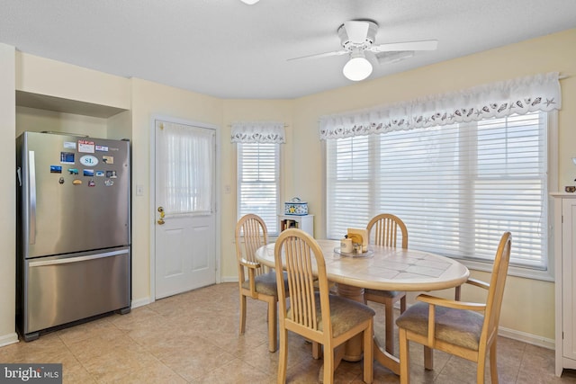
[[[491,261],[511,231],[511,263],[546,269],[547,113],[330,139],[327,234],[388,212],[410,247]]]

